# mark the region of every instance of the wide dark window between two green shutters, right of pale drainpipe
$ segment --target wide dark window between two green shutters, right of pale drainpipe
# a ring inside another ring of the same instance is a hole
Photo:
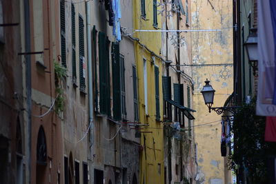
[[[99,32],[99,108],[110,116],[109,43],[106,34]]]

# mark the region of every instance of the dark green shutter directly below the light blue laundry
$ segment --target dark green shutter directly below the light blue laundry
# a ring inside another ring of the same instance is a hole
[[[121,120],[121,81],[119,43],[112,43],[112,89],[113,89],[113,118]]]

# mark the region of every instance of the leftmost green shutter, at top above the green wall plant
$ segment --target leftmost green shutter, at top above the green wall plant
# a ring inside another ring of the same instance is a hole
[[[60,26],[61,26],[61,65],[66,68],[66,25],[65,25],[65,1],[60,1]]]

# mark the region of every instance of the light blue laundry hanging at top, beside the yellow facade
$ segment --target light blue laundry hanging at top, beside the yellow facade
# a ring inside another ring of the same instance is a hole
[[[112,9],[115,14],[113,21],[113,35],[116,37],[116,41],[121,41],[121,7],[119,0],[112,0]]]

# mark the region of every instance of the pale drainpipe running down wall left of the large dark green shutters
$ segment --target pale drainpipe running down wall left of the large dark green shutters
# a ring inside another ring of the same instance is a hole
[[[88,50],[88,105],[89,105],[89,124],[90,125],[90,154],[93,145],[93,91],[92,91],[92,53],[91,53],[91,19],[90,19],[90,1],[86,2],[86,28],[87,28],[87,50]]]

